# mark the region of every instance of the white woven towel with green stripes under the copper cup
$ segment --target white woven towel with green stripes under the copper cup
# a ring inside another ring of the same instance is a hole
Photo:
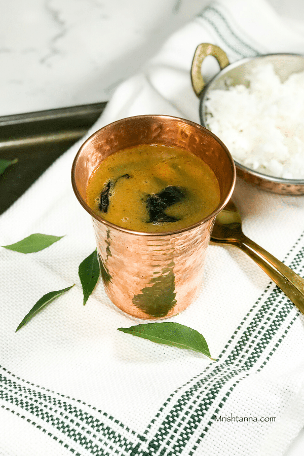
[[[202,42],[230,61],[304,49],[263,0],[211,3],[116,90],[90,133],[142,113],[199,122],[189,71]],[[170,321],[201,332],[217,362],[117,331],[143,321],[101,281],[84,307],[78,266],[95,241],[70,184],[81,142],[0,217],[1,245],[66,235],[41,252],[0,252],[0,454],[282,455],[304,425],[303,316],[243,252],[213,245],[199,297]],[[238,181],[234,201],[244,232],[303,275],[304,197]],[[42,295],[73,283],[15,333]]]

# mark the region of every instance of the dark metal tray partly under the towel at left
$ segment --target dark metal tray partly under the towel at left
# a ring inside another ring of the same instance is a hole
[[[101,115],[106,102],[0,117],[0,159],[18,162],[0,176],[0,214]]]

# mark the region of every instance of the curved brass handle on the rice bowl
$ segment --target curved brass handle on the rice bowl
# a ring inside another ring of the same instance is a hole
[[[202,63],[208,55],[212,55],[216,58],[220,69],[223,69],[225,66],[229,65],[228,57],[226,56],[225,52],[218,46],[210,43],[202,43],[196,48],[191,65],[191,82],[193,90],[198,97],[200,97],[206,85],[202,76]]]

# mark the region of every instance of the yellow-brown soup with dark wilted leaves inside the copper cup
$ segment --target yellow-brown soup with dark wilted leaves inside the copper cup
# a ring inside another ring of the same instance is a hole
[[[218,181],[195,154],[160,144],[116,152],[93,172],[87,203],[107,221],[142,232],[175,231],[217,207]]]

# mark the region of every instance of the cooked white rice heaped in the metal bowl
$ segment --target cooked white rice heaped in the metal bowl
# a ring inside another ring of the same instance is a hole
[[[304,179],[304,71],[281,83],[273,65],[264,64],[247,79],[248,88],[210,91],[208,128],[248,168]]]

